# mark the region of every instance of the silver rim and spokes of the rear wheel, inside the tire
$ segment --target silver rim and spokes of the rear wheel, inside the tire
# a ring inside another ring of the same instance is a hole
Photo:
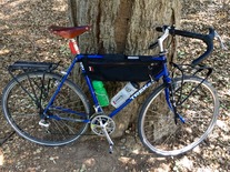
[[[29,75],[31,77],[32,84],[38,83],[34,89],[30,88],[29,92],[32,94],[32,97],[40,97],[40,93],[38,92],[40,91],[39,85],[41,78],[43,78],[42,73],[30,73]],[[36,77],[39,78],[36,79]],[[46,81],[43,84],[49,84],[49,88],[44,87],[43,89],[43,94],[41,97],[42,107],[44,107],[50,100],[50,97],[56,90],[54,88],[57,88],[59,80],[60,77],[56,74],[46,74]],[[27,81],[27,75],[19,78],[19,82],[21,82],[23,85],[31,84]],[[40,109],[36,102],[32,101],[31,98],[28,97],[28,94],[20,87],[17,88],[17,85],[19,84],[13,82],[6,91],[3,111],[6,114],[8,114],[6,115],[7,120],[21,136],[39,144],[61,145],[77,140],[86,131],[86,123],[58,121],[56,119],[48,120],[50,123],[49,128],[39,125]],[[11,90],[12,88],[13,90]],[[38,94],[36,95],[32,92]],[[73,109],[76,111],[86,110],[86,113],[89,113],[89,108],[87,107],[86,102],[82,103],[83,98],[77,98],[74,97],[74,93],[77,94],[76,88],[71,83],[66,82],[63,89],[56,99],[56,105],[64,105],[64,108]],[[40,98],[37,99],[40,100]],[[70,99],[76,99],[76,101],[70,101]],[[80,108],[78,109],[77,107]],[[64,114],[63,112],[57,110],[51,110],[49,113],[58,114],[63,118],[68,117],[69,119],[88,119],[88,115],[79,118],[74,117],[73,114]]]

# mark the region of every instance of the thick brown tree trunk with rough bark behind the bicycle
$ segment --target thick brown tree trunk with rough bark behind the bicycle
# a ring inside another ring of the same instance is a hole
[[[154,28],[163,24],[178,27],[181,4],[179,0],[69,0],[69,9],[73,26],[91,24],[91,32],[78,38],[81,53],[134,55],[154,53],[148,50],[159,36]],[[169,57],[172,58],[173,53]],[[113,89],[108,89],[110,98],[123,84],[117,83]],[[110,88],[110,84],[106,82],[106,87]],[[137,118],[142,102],[143,98],[139,98],[116,117],[114,136],[123,134]]]

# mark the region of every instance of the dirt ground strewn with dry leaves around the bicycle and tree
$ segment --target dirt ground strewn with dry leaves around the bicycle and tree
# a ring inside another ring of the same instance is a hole
[[[212,26],[230,49],[230,1],[183,0],[181,27],[206,31]],[[64,0],[0,0],[0,91],[9,81],[6,70],[18,59],[36,61],[69,61],[67,42],[51,36],[51,24],[68,24]],[[0,171],[14,172],[122,172],[122,171],[229,171],[230,170],[230,50],[216,50],[207,60],[214,72],[209,79],[219,93],[221,107],[217,127],[207,141],[186,155],[159,158],[148,153],[137,133],[127,130],[114,140],[114,153],[101,138],[82,140],[69,145],[50,148],[30,143],[13,134],[0,146]],[[189,42],[179,45],[178,55],[198,53]],[[0,112],[0,141],[12,132]]]

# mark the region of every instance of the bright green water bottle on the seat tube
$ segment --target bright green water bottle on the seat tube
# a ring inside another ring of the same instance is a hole
[[[101,81],[92,81],[92,87],[94,89],[96,95],[98,98],[99,104],[101,107],[109,105],[109,97],[107,90],[103,87],[103,82]]]

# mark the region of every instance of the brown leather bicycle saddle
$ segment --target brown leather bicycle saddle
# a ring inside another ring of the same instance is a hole
[[[62,38],[72,39],[76,38],[87,31],[90,30],[90,26],[82,26],[82,27],[58,27],[58,26],[51,26],[49,27],[49,30],[53,34],[58,34]]]

